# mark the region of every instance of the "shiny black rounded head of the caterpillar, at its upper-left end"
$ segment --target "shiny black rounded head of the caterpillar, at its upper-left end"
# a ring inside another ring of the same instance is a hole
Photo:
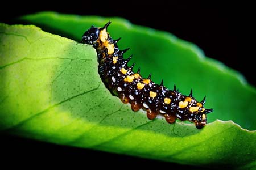
[[[95,44],[100,35],[100,29],[94,26],[90,27],[82,36],[82,42],[85,44]]]

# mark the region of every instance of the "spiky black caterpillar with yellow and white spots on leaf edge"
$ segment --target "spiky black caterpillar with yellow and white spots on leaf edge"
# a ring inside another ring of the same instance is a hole
[[[192,96],[192,90],[186,96],[177,91],[175,85],[173,90],[168,90],[163,80],[160,85],[152,82],[151,74],[143,78],[139,74],[140,69],[135,73],[134,64],[127,65],[132,56],[123,58],[129,48],[119,50],[117,42],[121,38],[113,40],[107,32],[110,23],[102,28],[89,28],[82,36],[82,42],[96,49],[98,73],[112,95],[125,104],[130,103],[133,111],[143,109],[150,120],[161,115],[170,124],[178,119],[194,123],[197,129],[203,128],[207,124],[206,115],[213,111],[204,108],[205,97],[198,102]]]

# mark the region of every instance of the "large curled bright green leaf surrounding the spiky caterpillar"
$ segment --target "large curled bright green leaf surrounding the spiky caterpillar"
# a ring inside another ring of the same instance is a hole
[[[142,75],[184,94],[207,95],[209,123],[148,120],[105,88],[92,46],[35,26],[0,25],[0,127],[42,141],[210,167],[256,167],[255,88],[242,76],[170,33],[120,18],[42,12],[22,18],[80,41],[90,25],[108,31],[121,49],[131,47]],[[158,57],[156,57],[158,56]],[[154,65],[152,65],[154,63]],[[168,64],[167,64],[168,63]],[[218,119],[218,120],[216,120]],[[249,129],[242,129],[243,128]]]

